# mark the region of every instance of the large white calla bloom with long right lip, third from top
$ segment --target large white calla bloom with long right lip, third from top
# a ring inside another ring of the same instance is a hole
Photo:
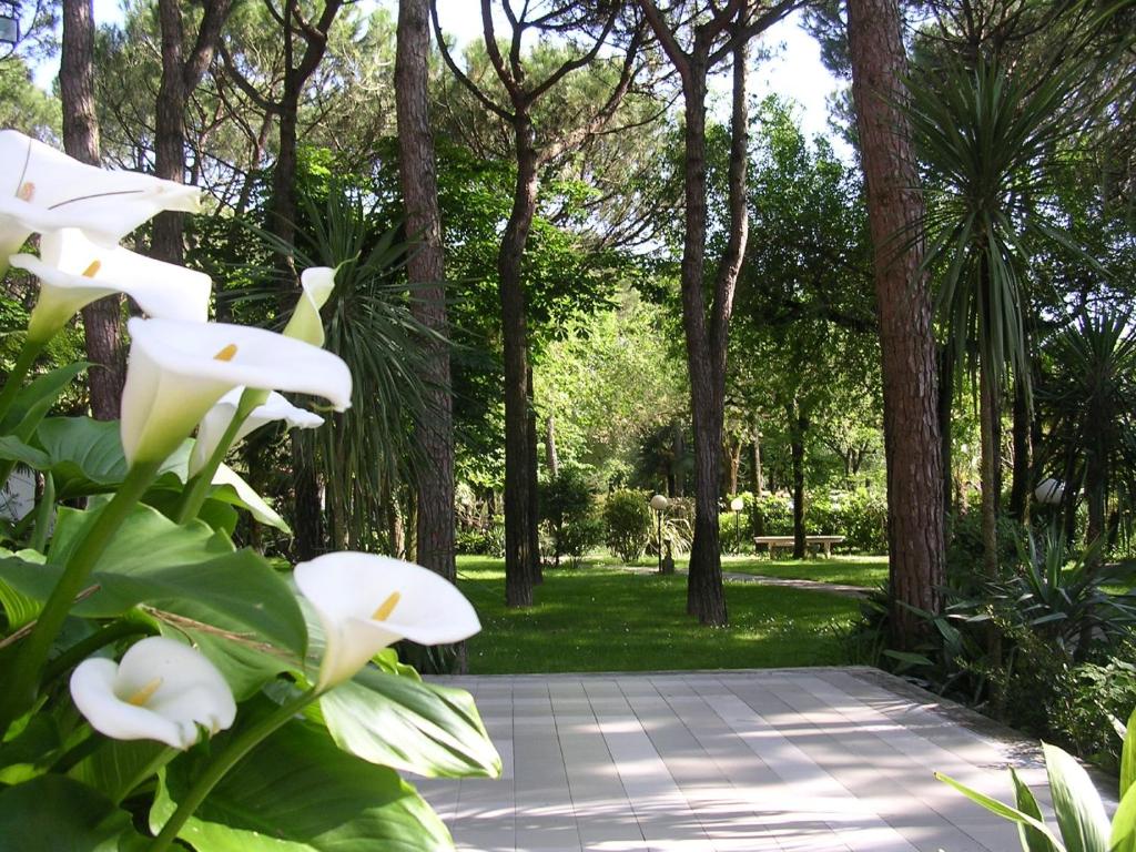
[[[351,406],[341,358],[262,328],[173,319],[132,319],[123,389],[126,460],[161,461],[226,392],[244,386],[323,396]]]

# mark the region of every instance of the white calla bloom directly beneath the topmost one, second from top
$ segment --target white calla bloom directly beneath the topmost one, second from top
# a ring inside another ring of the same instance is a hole
[[[209,318],[208,275],[93,242],[78,228],[44,233],[40,257],[15,254],[11,265],[40,279],[28,340],[49,340],[77,310],[111,293],[126,293],[152,317]]]

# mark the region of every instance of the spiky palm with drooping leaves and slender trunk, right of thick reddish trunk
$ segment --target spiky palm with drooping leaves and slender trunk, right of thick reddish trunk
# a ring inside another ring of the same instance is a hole
[[[922,270],[941,273],[936,309],[955,362],[978,374],[985,569],[997,573],[997,448],[1003,387],[1012,374],[1029,400],[1022,320],[1025,237],[1070,240],[1033,201],[1053,176],[1053,152],[1080,130],[1092,75],[1070,61],[1041,81],[997,60],[947,61],[910,86],[908,115],[929,173]]]

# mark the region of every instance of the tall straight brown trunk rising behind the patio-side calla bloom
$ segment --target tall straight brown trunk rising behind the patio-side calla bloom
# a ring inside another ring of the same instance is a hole
[[[429,2],[401,0],[394,102],[399,119],[399,179],[407,209],[407,231],[417,241],[416,250],[407,262],[415,294],[410,308],[420,323],[444,339],[449,335],[449,321],[434,137],[428,114],[428,57]],[[415,440],[427,459],[417,475],[417,556],[423,566],[453,582],[457,567],[450,349],[444,340],[436,339],[425,345],[425,400],[423,417],[415,424]],[[463,662],[463,648],[460,655]]]

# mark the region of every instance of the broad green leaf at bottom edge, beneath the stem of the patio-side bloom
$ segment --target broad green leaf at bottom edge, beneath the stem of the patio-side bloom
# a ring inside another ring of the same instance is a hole
[[[218,737],[214,752],[228,738]],[[200,774],[200,755],[186,757],[165,771],[150,813],[154,832]],[[442,821],[394,770],[340,751],[326,732],[298,721],[237,763],[179,836],[208,852],[453,849]]]

